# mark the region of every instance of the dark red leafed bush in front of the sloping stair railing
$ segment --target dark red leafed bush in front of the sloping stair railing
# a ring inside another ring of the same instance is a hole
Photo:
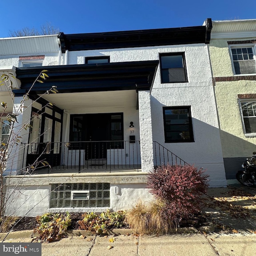
[[[148,175],[147,188],[165,202],[169,218],[179,222],[200,210],[200,196],[208,188],[204,172],[194,166],[162,165]]]

